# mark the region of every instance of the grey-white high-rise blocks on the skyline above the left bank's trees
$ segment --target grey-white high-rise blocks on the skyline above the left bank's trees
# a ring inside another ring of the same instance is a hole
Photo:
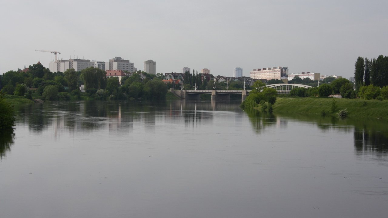
[[[125,60],[121,57],[114,57],[109,62],[104,61],[90,61],[88,59],[69,59],[51,61],[49,69],[51,72],[64,72],[67,69],[73,68],[76,71],[81,71],[88,67],[96,67],[106,70],[122,70],[128,72],[135,72],[137,68],[133,66],[133,63],[129,60]],[[152,60],[144,61],[144,72],[149,74],[156,74],[156,62]]]

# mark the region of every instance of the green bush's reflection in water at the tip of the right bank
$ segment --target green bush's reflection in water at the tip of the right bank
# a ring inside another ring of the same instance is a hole
[[[247,109],[245,112],[248,114],[249,121],[256,133],[261,133],[266,127],[276,125],[277,123],[276,117],[272,113],[259,112],[255,109]]]

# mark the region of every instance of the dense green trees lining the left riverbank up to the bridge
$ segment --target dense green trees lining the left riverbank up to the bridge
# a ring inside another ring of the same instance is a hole
[[[85,86],[85,93],[81,93],[80,85]],[[28,71],[18,69],[1,75],[0,90],[4,94],[46,100],[161,100],[167,93],[161,75],[137,71],[133,76],[123,77],[120,83],[118,77],[107,77],[106,71],[99,68],[52,73],[40,63],[29,66]]]

